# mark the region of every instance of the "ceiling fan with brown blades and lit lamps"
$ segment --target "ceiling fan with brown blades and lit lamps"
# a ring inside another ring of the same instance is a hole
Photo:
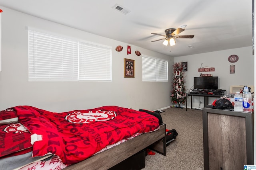
[[[185,27],[186,27],[186,25],[184,25],[184,28]],[[168,29],[166,29],[164,31],[166,35],[162,35],[162,34],[158,34],[158,33],[151,33],[151,34],[154,34],[154,35],[160,35],[160,36],[164,37],[162,39],[158,39],[158,40],[151,41],[151,42],[156,42],[156,41],[164,39],[163,44],[164,45],[168,45],[169,44],[169,51],[170,51],[170,46],[173,46],[176,43],[174,38],[194,38],[194,35],[179,35],[183,31],[185,31],[185,29],[179,27],[177,29],[175,29],[175,28],[168,28]]]

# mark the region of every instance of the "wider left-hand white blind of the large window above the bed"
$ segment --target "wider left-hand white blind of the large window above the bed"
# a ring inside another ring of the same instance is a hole
[[[28,31],[30,81],[77,81],[78,41]]]

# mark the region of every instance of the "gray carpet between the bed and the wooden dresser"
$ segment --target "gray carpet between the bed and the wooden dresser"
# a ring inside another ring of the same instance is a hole
[[[176,129],[176,140],[166,147],[166,156],[146,156],[143,170],[203,170],[202,110],[168,108],[160,113],[166,129]]]

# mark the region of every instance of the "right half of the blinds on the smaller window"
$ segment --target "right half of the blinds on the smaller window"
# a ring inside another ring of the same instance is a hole
[[[156,59],[157,81],[168,81],[168,61]]]

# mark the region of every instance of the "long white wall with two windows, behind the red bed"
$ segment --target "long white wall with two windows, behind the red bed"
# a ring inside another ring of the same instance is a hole
[[[93,35],[78,29],[42,20],[8,8],[2,13],[2,72],[0,72],[0,110],[30,105],[49,111],[68,111],[114,105],[133,109],[160,109],[171,105],[169,82],[142,82],[142,56],[169,61],[173,57],[142,49],[131,44]],[[88,23],[90,24],[90,23]],[[32,27],[94,43],[112,46],[112,82],[28,82],[28,31]],[[115,51],[122,45],[121,52]],[[127,45],[132,54],[127,55]],[[135,60],[135,78],[124,78],[124,58]]]

